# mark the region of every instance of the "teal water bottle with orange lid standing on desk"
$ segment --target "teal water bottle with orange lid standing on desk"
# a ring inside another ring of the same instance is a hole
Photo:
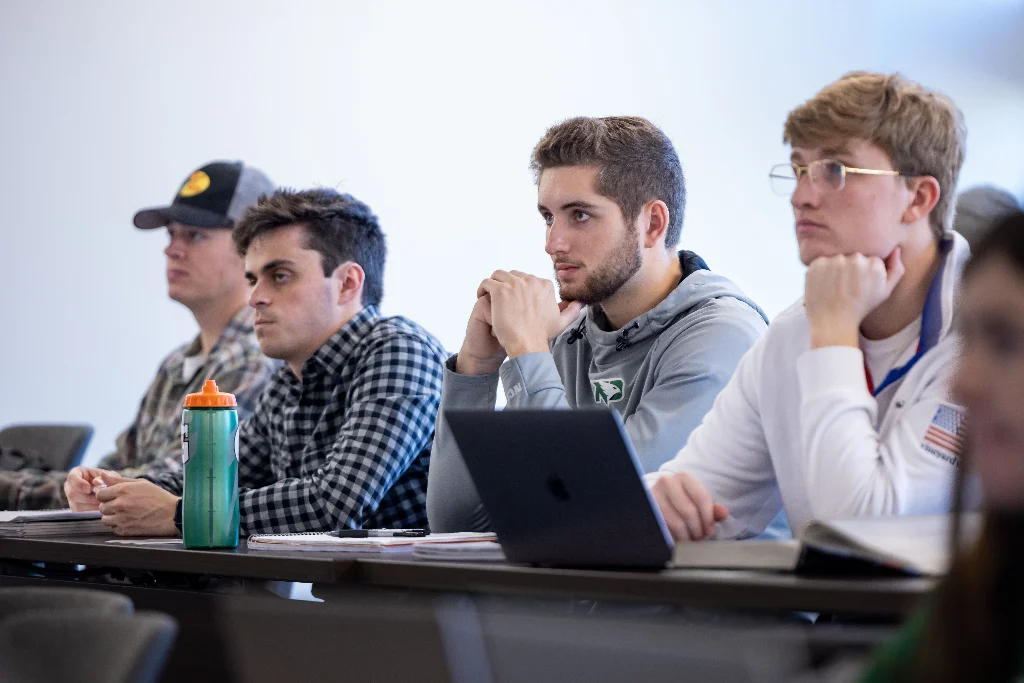
[[[239,545],[239,413],[207,380],[181,412],[181,538],[185,548]]]

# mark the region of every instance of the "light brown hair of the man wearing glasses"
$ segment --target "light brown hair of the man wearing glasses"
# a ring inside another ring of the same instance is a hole
[[[900,74],[867,72],[847,74],[790,112],[782,133],[793,146],[866,140],[889,155],[897,171],[934,177],[940,197],[929,221],[937,239],[952,229],[966,138],[964,116],[948,97]]]

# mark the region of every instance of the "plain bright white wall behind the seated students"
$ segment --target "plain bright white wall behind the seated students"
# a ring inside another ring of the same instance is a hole
[[[195,334],[133,212],[244,159],[351,191],[390,243],[384,308],[458,348],[497,267],[550,271],[545,128],[634,114],[675,141],[683,245],[770,314],[802,290],[767,171],[786,113],[854,69],[951,95],[962,186],[1024,194],[1020,0],[0,1],[0,424],[85,421],[88,461]]]

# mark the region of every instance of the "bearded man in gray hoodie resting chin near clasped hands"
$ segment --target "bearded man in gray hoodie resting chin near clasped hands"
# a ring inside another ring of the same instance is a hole
[[[547,131],[530,166],[561,303],[549,280],[517,270],[480,284],[444,369],[427,484],[434,531],[490,525],[445,410],[494,408],[499,378],[512,410],[606,405],[655,471],[767,327],[739,288],[674,249],[683,171],[649,121],[569,119]]]

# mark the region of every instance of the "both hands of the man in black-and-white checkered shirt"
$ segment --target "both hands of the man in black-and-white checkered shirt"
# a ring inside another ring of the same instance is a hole
[[[111,470],[75,467],[65,480],[71,509],[99,510],[118,536],[176,536],[178,497],[146,479],[123,477]]]

